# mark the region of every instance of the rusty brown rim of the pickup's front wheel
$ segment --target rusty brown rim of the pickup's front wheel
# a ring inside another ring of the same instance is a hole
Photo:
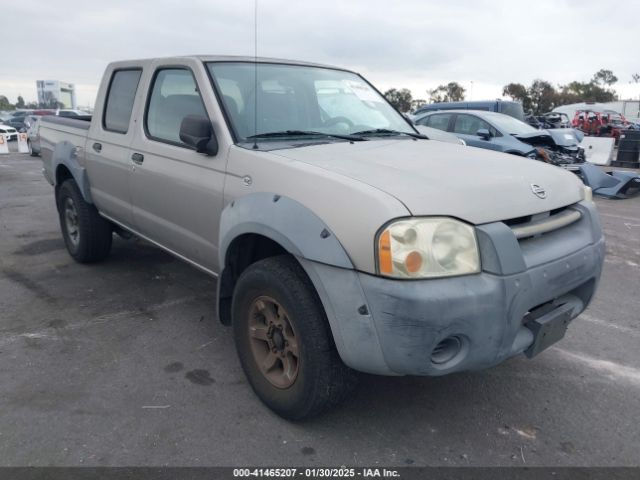
[[[288,388],[300,366],[298,340],[286,310],[271,297],[256,298],[249,309],[249,343],[260,372],[277,388]]]

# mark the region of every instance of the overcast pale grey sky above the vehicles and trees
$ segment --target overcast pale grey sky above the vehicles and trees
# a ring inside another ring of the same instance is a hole
[[[613,70],[639,98],[640,0],[257,0],[258,55],[347,67],[414,98],[457,81],[467,98],[510,82],[588,81]],[[253,55],[254,0],[2,1],[0,95],[36,100],[36,80],[76,85],[91,106],[115,60]],[[11,41],[7,41],[11,39]]]

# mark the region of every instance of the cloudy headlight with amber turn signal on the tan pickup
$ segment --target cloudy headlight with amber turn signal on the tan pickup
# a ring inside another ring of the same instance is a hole
[[[472,226],[448,217],[410,218],[378,235],[378,272],[396,278],[433,278],[480,271]]]

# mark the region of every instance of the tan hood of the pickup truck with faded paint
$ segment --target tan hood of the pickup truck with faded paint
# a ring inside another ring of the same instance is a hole
[[[271,153],[364,182],[398,199],[412,215],[473,224],[564,207],[580,201],[584,191],[574,174],[552,165],[429,140],[340,142]],[[546,197],[538,197],[532,185]]]

